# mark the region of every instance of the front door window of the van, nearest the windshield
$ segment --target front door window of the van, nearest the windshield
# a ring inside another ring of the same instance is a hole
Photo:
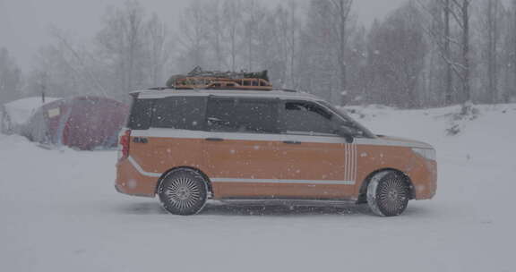
[[[335,134],[333,115],[322,106],[308,101],[288,101],[281,107],[281,132],[322,136]]]

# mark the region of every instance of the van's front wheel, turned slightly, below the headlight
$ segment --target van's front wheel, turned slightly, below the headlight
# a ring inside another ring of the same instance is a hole
[[[367,185],[367,204],[375,215],[395,217],[409,205],[410,189],[407,177],[396,171],[375,174]]]

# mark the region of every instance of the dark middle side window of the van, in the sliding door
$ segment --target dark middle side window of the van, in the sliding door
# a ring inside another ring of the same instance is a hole
[[[275,133],[278,103],[274,99],[210,98],[206,120],[211,132]]]

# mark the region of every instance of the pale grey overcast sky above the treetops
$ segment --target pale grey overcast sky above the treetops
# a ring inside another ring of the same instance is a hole
[[[262,0],[276,5],[280,0]],[[405,0],[355,0],[358,20],[369,24],[381,18]],[[0,0],[0,47],[7,47],[23,70],[30,69],[31,57],[39,47],[50,42],[48,30],[73,33],[88,40],[100,29],[100,18],[107,6],[125,0]],[[141,0],[150,13],[158,13],[174,28],[188,0]]]

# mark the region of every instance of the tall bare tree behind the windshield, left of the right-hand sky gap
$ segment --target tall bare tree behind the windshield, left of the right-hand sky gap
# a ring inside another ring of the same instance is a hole
[[[312,0],[298,48],[301,88],[336,104],[343,103],[343,94],[348,93],[348,38],[356,30],[351,4]]]

